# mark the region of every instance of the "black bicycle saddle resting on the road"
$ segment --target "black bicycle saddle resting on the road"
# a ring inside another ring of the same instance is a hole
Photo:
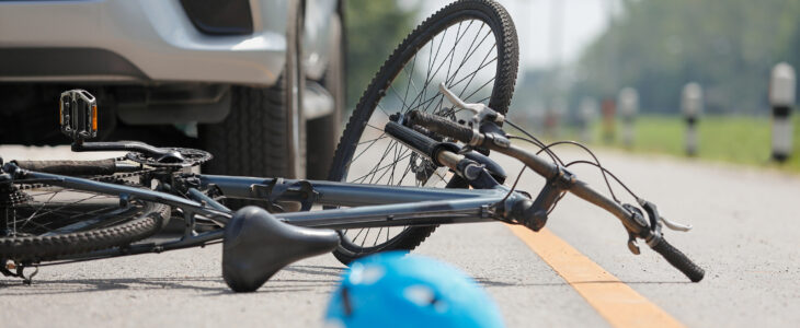
[[[244,207],[225,230],[222,278],[236,292],[252,292],[287,265],[338,245],[335,231],[290,225],[262,208]]]

